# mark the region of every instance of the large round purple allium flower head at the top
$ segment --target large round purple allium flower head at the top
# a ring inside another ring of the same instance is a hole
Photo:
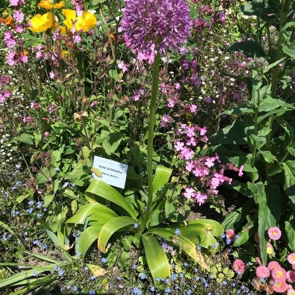
[[[143,59],[179,49],[190,34],[189,13],[185,0],[127,0],[121,21],[126,45]]]

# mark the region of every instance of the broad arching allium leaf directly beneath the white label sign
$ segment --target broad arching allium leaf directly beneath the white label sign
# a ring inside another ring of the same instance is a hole
[[[136,219],[136,212],[132,209],[132,207],[127,203],[127,201],[123,198],[123,196],[111,185],[105,183],[100,179],[92,179],[89,187],[85,192],[85,196],[87,200],[94,199],[95,195],[100,196],[104,199],[109,200],[112,203],[117,204],[119,207],[122,207],[126,210],[129,215]]]

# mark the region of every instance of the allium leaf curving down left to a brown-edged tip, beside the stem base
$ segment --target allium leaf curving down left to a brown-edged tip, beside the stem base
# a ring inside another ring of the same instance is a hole
[[[137,221],[131,217],[120,216],[114,218],[103,225],[98,236],[98,249],[99,251],[106,253],[106,245],[110,237],[119,229],[127,227],[131,224],[135,224]]]

